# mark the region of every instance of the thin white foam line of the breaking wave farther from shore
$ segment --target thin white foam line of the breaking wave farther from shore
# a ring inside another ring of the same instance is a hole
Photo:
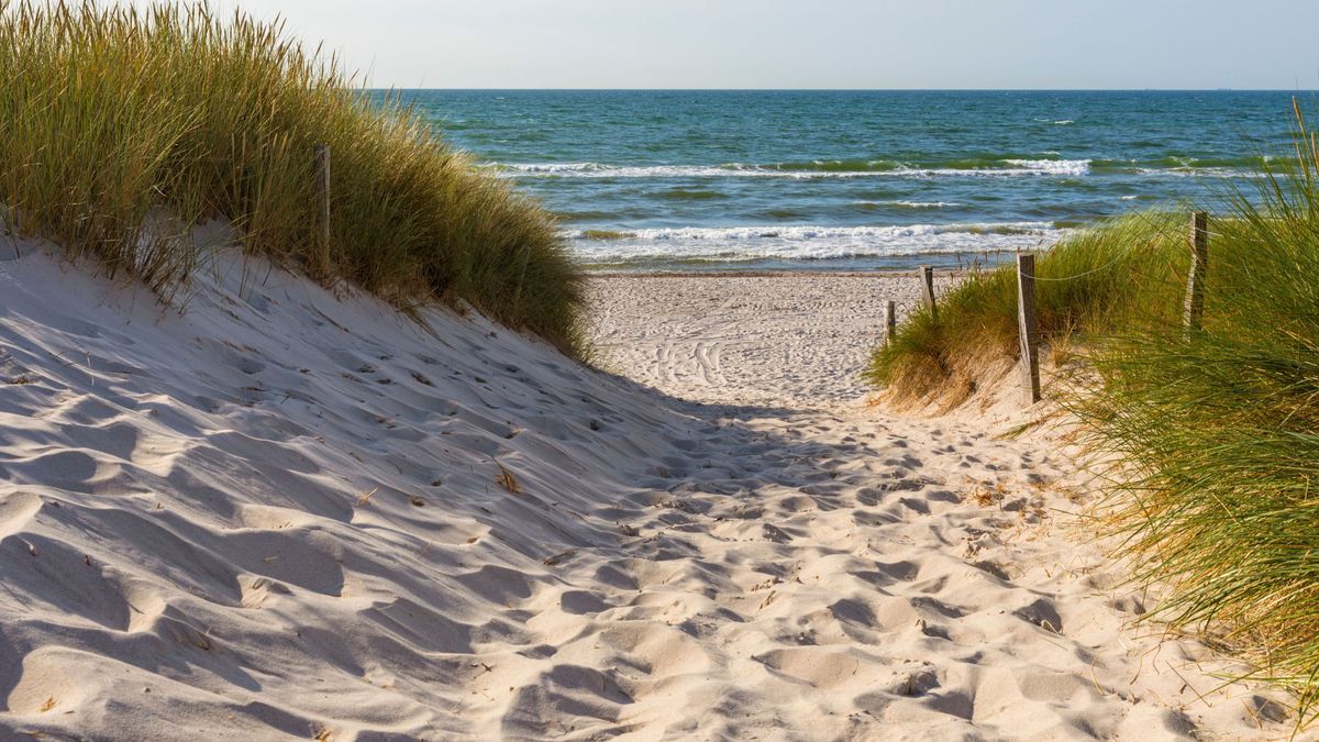
[[[1004,160],[998,168],[911,168],[889,170],[787,170],[757,165],[604,165],[600,162],[508,162],[493,168],[512,177],[558,178],[893,178],[1084,176],[1089,160]]]

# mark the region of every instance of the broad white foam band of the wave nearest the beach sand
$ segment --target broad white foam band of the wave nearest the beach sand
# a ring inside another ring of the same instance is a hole
[[[1063,234],[1049,222],[902,224],[863,227],[673,227],[591,239],[567,232],[588,263],[656,260],[819,260],[955,252],[996,252],[1053,244]]]

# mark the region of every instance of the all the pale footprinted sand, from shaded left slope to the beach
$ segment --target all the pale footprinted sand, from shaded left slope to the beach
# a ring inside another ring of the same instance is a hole
[[[251,268],[179,317],[0,263],[0,734],[1289,729],[1130,626],[1057,524],[1067,457],[855,407],[869,284],[600,287],[605,360],[687,401]]]

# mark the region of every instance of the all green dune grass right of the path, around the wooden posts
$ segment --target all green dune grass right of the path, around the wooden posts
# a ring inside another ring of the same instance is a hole
[[[1084,363],[1055,389],[1116,462],[1096,515],[1166,586],[1149,614],[1252,660],[1319,700],[1319,144],[1297,112],[1293,157],[1210,222],[1203,327],[1182,323],[1188,217],[1128,217],[1063,240],[1038,264],[1046,342]],[[898,396],[954,399],[985,359],[1017,356],[1012,269],[972,276],[874,353]],[[1002,364],[1000,364],[1000,368]],[[1115,455],[1116,454],[1116,455]]]

